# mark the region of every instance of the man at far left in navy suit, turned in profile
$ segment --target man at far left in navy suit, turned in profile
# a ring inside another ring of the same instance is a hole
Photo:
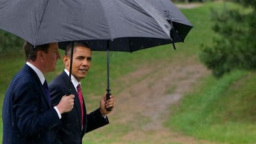
[[[58,43],[24,44],[26,64],[12,80],[2,106],[3,144],[53,144],[58,142],[61,114],[74,106],[74,95],[51,105],[45,74],[55,70]]]

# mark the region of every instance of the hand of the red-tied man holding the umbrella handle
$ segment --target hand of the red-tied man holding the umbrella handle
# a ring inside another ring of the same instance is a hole
[[[100,112],[103,116],[109,114],[111,111],[107,111],[106,108],[114,108],[114,96],[111,94],[109,96],[109,100],[106,101],[106,93],[105,95],[101,98],[100,101]]]

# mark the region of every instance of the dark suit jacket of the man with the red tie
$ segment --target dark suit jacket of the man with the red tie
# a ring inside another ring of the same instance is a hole
[[[75,95],[75,106],[70,112],[62,114],[61,125],[59,127],[59,138],[65,144],[81,144],[85,133],[98,129],[103,125],[109,124],[108,117],[106,119],[101,115],[100,110],[87,114],[85,103],[83,101],[83,129],[81,123],[80,101],[74,85],[71,83],[71,91],[69,91],[69,76],[66,72],[62,72],[51,83],[49,83],[49,91],[52,103],[58,104],[62,96],[67,93]]]

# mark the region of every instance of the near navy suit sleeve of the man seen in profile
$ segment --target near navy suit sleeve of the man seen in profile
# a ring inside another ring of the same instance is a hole
[[[23,135],[32,136],[59,124],[57,112],[54,108],[49,108],[38,83],[23,80],[13,91],[12,106],[17,126]]]

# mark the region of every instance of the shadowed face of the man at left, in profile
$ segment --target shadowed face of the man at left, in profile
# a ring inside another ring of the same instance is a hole
[[[45,71],[51,72],[56,69],[56,64],[58,59],[61,58],[59,54],[58,43],[49,44],[48,53],[44,53],[45,55]]]

